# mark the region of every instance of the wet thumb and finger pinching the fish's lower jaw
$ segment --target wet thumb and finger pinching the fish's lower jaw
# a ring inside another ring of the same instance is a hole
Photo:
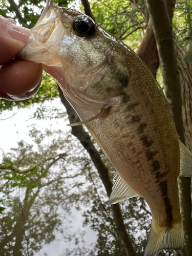
[[[29,35],[29,29],[16,26],[13,19],[0,15],[0,97],[7,100],[28,99],[40,87],[41,64],[13,59]]]

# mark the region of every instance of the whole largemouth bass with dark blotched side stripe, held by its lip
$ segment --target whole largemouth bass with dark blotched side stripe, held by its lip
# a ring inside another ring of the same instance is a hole
[[[192,176],[170,106],[137,54],[89,16],[48,0],[18,57],[42,63],[116,169],[110,204],[143,197],[144,256],[184,246],[179,176]]]

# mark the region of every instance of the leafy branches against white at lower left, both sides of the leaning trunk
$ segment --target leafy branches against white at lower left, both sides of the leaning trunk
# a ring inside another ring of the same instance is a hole
[[[19,246],[23,253],[28,251],[33,255],[44,243],[55,239],[54,230],[76,245],[73,254],[67,250],[65,256],[119,255],[120,252],[125,255],[103,185],[90,157],[82,154],[82,147],[74,140],[72,143],[71,136],[61,131],[41,133],[33,126],[29,136],[35,144],[20,141],[16,148],[4,154],[0,165],[1,255],[12,255]],[[72,144],[77,144],[76,150]],[[63,148],[65,152],[61,153]],[[97,243],[90,249],[82,245],[82,234],[64,232],[68,224],[63,220],[73,206],[78,210],[89,208],[83,213],[84,225],[90,225],[98,236]],[[121,206],[126,228],[130,230],[137,251],[142,251],[146,231],[150,228],[150,213],[139,198],[123,202]],[[19,236],[20,243],[14,244]],[[137,236],[139,239],[135,238]]]

